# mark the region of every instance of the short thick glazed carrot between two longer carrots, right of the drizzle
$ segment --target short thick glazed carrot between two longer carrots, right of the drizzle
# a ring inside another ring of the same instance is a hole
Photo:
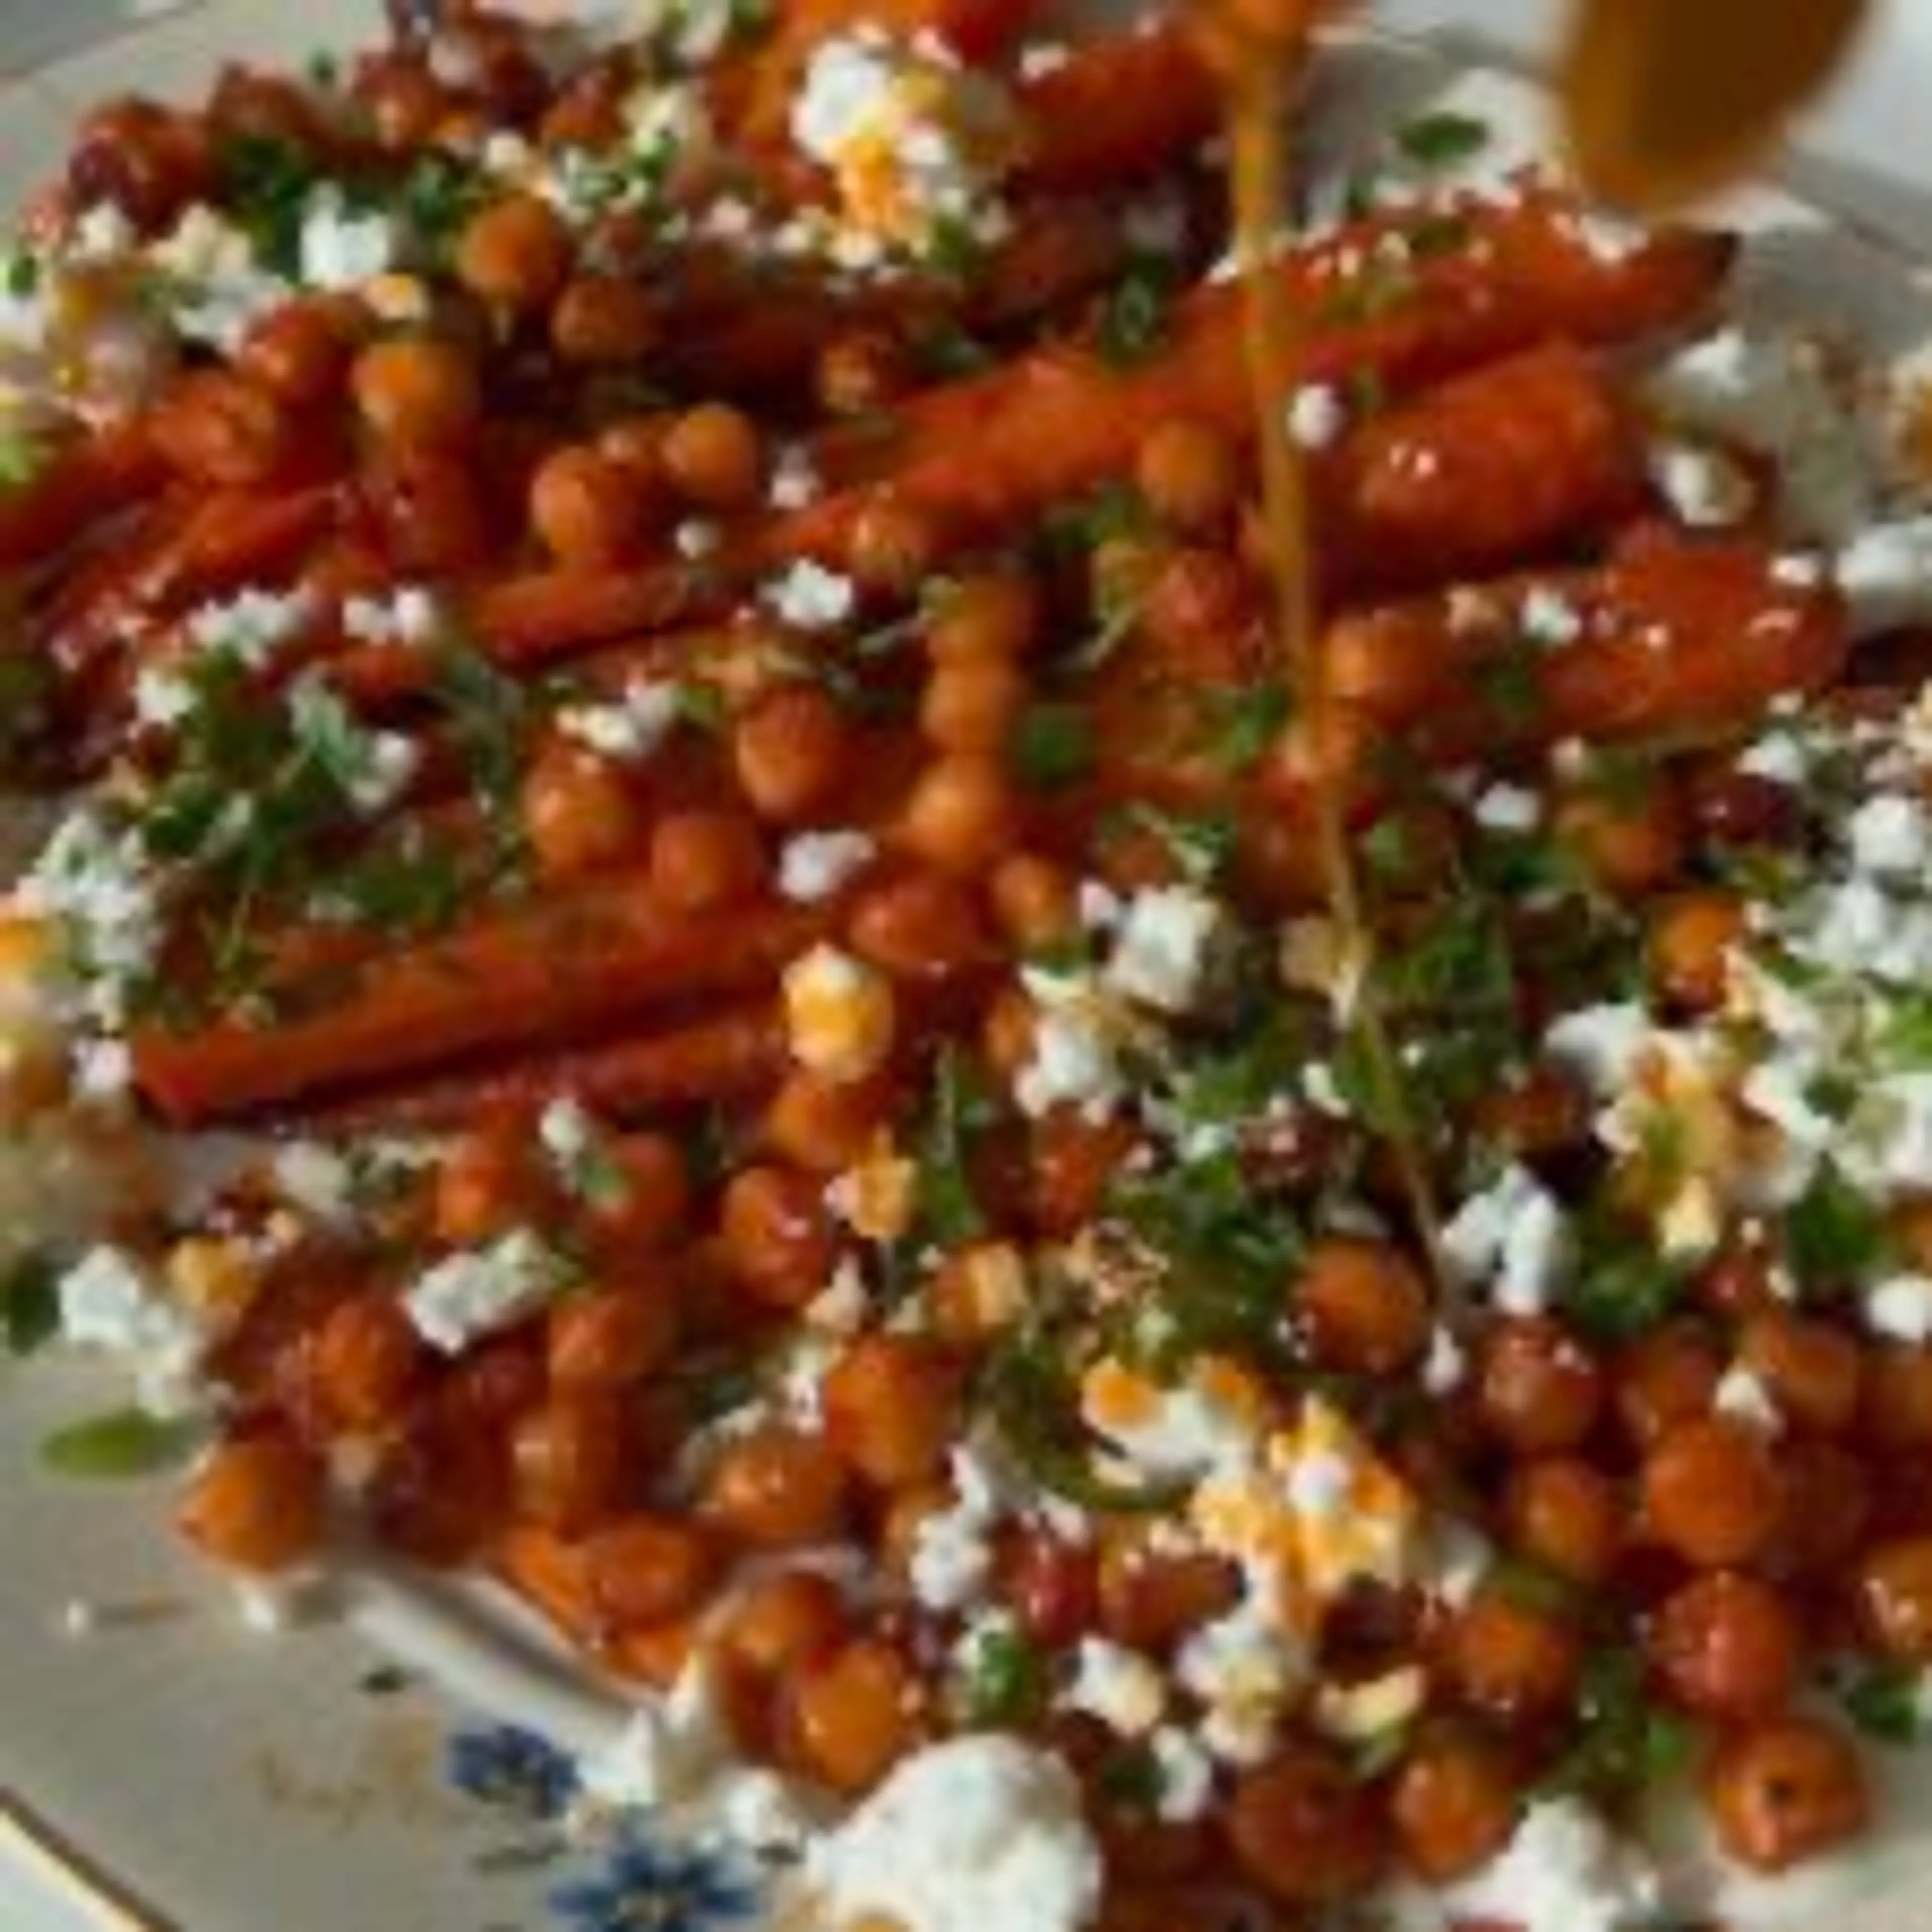
[[[1441,583],[1604,529],[1644,497],[1644,437],[1604,365],[1549,344],[1428,390],[1316,477],[1320,554],[1349,585]]]

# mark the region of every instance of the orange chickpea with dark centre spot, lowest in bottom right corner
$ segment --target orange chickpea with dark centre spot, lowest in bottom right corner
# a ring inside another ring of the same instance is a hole
[[[1704,1795],[1718,1841],[1760,1872],[1789,1870],[1859,1837],[1872,1814],[1857,1748],[1816,1718],[1781,1718],[1727,1737]]]

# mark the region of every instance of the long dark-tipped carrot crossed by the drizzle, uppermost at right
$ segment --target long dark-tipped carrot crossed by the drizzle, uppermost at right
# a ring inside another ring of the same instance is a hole
[[[1731,259],[1721,238],[1689,232],[1600,253],[1575,211],[1548,197],[1472,209],[1455,249],[1418,257],[1410,245],[1406,265],[1378,255],[1378,234],[1387,228],[1325,242],[1281,269],[1306,317],[1306,383],[1352,375],[1403,392],[1551,336],[1623,342],[1694,315]],[[881,497],[927,512],[952,541],[993,535],[1122,473],[1148,431],[1177,415],[1248,431],[1231,284],[1190,298],[1151,363],[1115,369],[1094,354],[1047,350],[927,392],[891,437],[821,439],[819,473],[854,487],[773,524],[761,551],[838,558]]]

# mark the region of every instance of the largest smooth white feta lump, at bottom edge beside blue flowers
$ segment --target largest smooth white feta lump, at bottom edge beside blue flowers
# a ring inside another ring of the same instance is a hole
[[[806,1853],[833,1924],[898,1932],[1082,1932],[1101,1859],[1080,1787],[1010,1737],[960,1737],[904,1760]]]

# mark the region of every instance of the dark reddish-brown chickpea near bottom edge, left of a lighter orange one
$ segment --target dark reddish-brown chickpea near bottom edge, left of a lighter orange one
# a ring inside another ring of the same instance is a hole
[[[1240,1779],[1227,1833],[1248,1876],[1285,1905],[1360,1897],[1387,1861],[1374,1795],[1316,1743],[1293,1743]]]

